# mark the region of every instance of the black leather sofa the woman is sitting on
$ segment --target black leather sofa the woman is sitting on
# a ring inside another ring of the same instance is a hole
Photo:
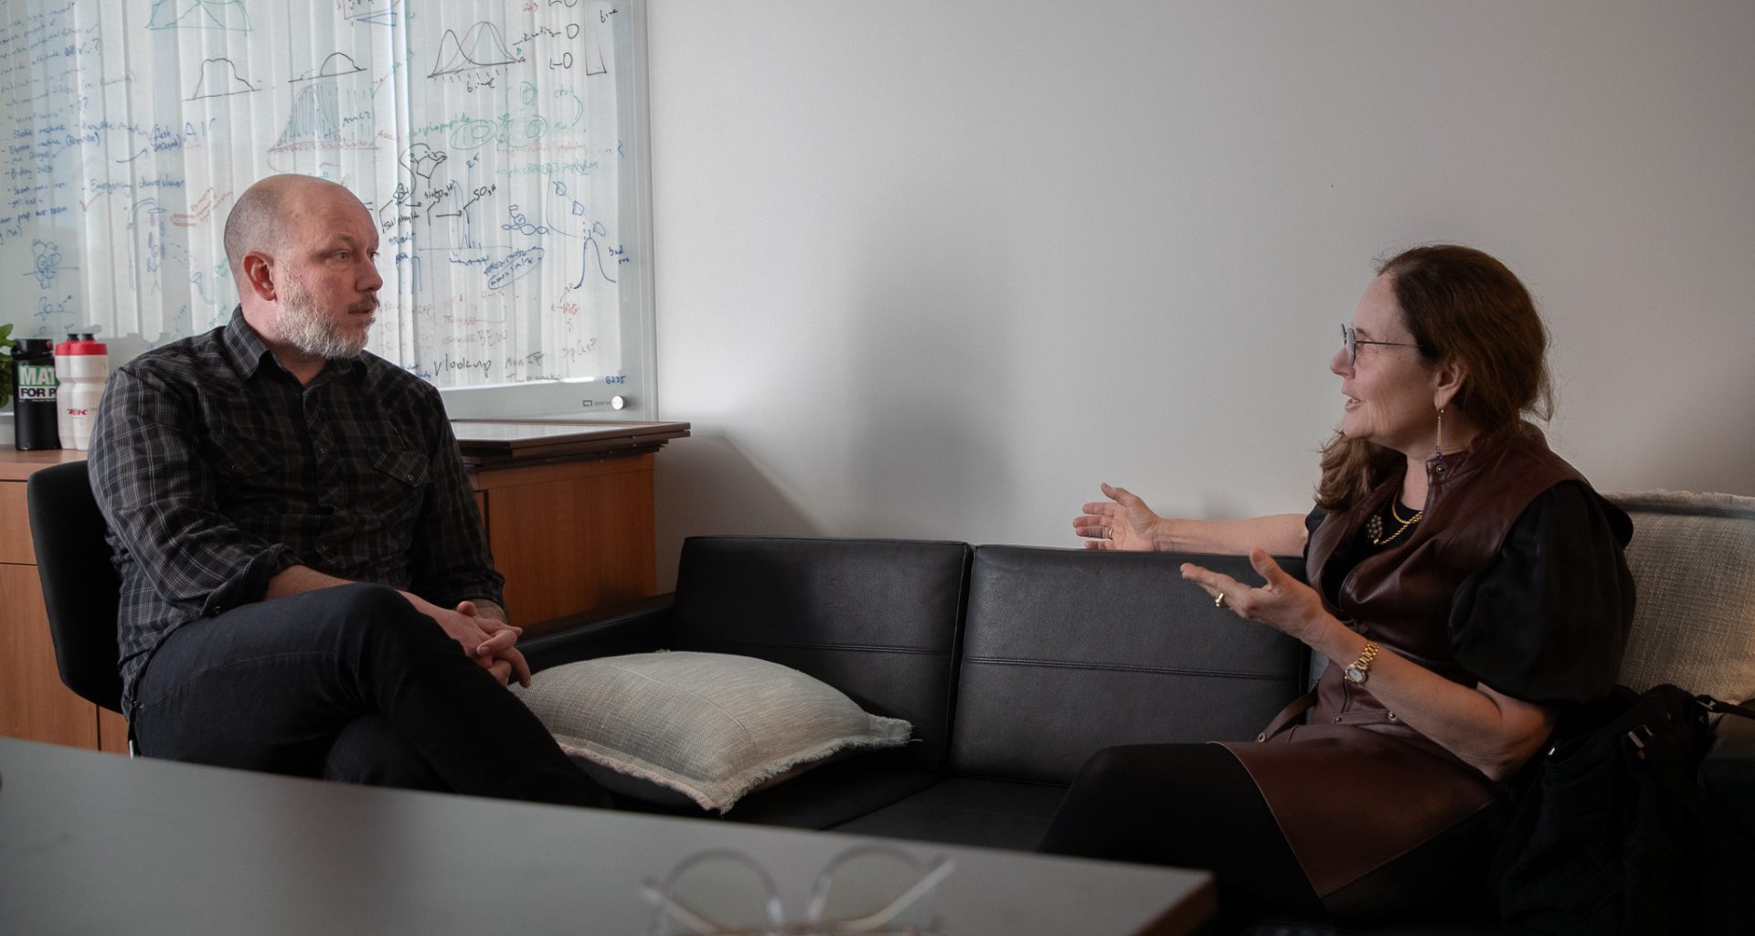
[[[563,622],[525,646],[535,669],[660,648],[762,657],[834,685],[867,711],[913,722],[916,743],[751,794],[728,822],[1027,850],[1093,752],[1250,739],[1309,685],[1304,646],[1216,609],[1179,578],[1188,558],[695,537],[683,546],[672,595]],[[1255,578],[1243,558],[1199,560]],[[1302,572],[1297,558],[1281,565]],[[1755,731],[1720,739],[1708,767],[1720,796],[1743,808],[1736,818],[1755,829]],[[1499,927],[1260,920],[1244,931],[1436,936]]]

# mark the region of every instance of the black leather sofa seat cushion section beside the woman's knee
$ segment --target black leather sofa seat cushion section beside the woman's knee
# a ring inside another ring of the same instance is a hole
[[[1065,792],[1046,783],[948,778],[834,831],[1028,852]]]

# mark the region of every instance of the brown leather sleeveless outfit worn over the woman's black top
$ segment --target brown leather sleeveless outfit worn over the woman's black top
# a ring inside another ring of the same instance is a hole
[[[1450,646],[1457,588],[1494,562],[1539,493],[1583,476],[1550,451],[1534,427],[1443,462],[1443,472],[1427,465],[1430,492],[1420,525],[1406,543],[1367,555],[1346,572],[1329,611],[1385,650],[1472,687],[1478,680]],[[1320,594],[1329,594],[1323,576],[1336,551],[1348,548],[1399,488],[1392,478],[1316,527],[1306,572]],[[1265,743],[1225,743],[1255,778],[1325,899],[1499,796],[1486,776],[1378,702],[1369,685],[1355,687],[1330,666],[1316,683],[1307,724]]]

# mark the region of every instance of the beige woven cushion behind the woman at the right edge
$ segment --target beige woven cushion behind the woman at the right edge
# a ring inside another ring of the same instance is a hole
[[[1609,500],[1634,518],[1627,567],[1639,594],[1622,683],[1755,697],[1755,497],[1651,490]]]

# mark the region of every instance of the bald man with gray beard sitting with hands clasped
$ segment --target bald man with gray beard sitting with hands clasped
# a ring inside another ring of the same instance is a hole
[[[365,351],[377,230],[274,176],[232,207],[232,321],[128,362],[91,439],[140,753],[602,804],[530,711],[439,393]]]

